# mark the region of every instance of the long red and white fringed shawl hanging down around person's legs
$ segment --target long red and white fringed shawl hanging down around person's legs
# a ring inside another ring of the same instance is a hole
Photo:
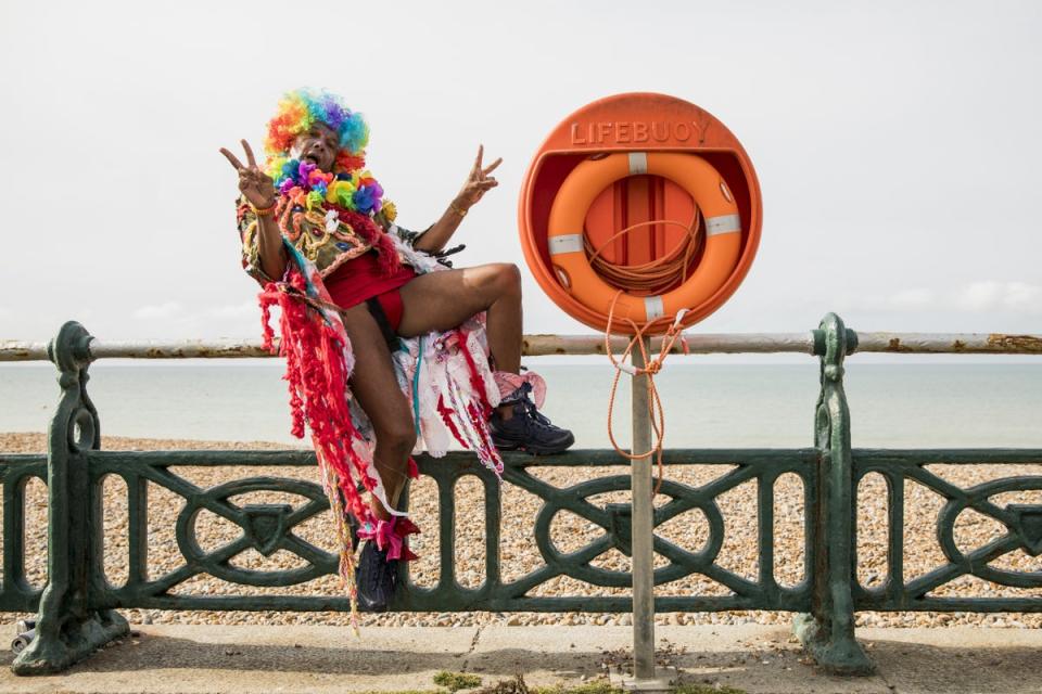
[[[418,272],[443,269],[431,256],[415,250],[395,234],[386,234],[398,258]],[[373,463],[376,440],[368,416],[351,394],[348,380],[354,368],[351,342],[335,305],[316,267],[283,237],[289,264],[282,282],[269,282],[259,294],[264,344],[274,347],[270,309],[281,309],[279,354],[285,358],[285,381],[290,390],[292,433],[304,437],[305,425],[329,498],[340,542],[339,575],[351,597],[352,625],[357,632],[357,587],[352,551],[352,527],[359,537],[390,542],[394,555],[415,554],[403,547],[405,536],[419,528],[405,512],[391,509],[380,474]],[[503,461],[488,433],[488,414],[499,401],[499,390],[488,368],[484,313],[455,330],[403,338],[393,361],[404,397],[412,406],[417,447],[433,457],[444,455],[455,440],[478,454],[497,477]],[[409,459],[409,477],[418,476]],[[378,520],[359,493],[372,492],[391,510],[394,524]],[[393,525],[393,532],[390,531]]]

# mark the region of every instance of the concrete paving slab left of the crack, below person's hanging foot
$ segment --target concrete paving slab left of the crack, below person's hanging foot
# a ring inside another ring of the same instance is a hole
[[[0,669],[0,692],[69,694],[294,694],[436,689],[459,670],[476,627],[134,626],[139,638],[103,648],[67,672],[17,677]],[[3,654],[3,665],[14,656]]]

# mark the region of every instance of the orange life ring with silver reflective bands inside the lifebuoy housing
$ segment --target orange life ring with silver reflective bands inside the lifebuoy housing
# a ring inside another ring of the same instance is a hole
[[[701,261],[681,286],[658,296],[623,293],[615,317],[637,324],[691,310],[709,300],[730,278],[741,254],[738,205],[720,172],[696,154],[614,153],[579,164],[561,183],[550,208],[547,244],[561,285],[588,309],[607,317],[618,290],[590,267],[583,248],[583,222],[594,198],[628,176],[650,174],[685,189],[706,220]]]

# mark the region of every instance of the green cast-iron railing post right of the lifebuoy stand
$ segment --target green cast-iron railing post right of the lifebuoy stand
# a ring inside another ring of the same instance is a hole
[[[843,358],[856,335],[835,313],[815,333],[822,390],[814,425],[818,450],[811,614],[796,617],[793,630],[819,666],[840,674],[868,674],[874,666],[854,639],[854,487],[850,410],[843,393]]]

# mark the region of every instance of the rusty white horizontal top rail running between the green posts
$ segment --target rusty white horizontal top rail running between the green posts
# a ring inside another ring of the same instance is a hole
[[[1042,335],[1005,333],[860,333],[848,331],[848,343],[855,352],[898,352],[903,355],[1042,355]],[[611,338],[611,349],[625,349],[628,337]],[[685,345],[686,343],[686,345]],[[656,351],[661,338],[653,338]],[[258,340],[183,339],[168,342],[115,342],[91,338],[87,355],[93,359],[252,359],[274,357]],[[673,354],[824,354],[821,331],[805,333],[716,333],[686,335],[677,340]],[[599,335],[525,335],[522,342],[525,357],[547,355],[603,355],[605,338]],[[47,344],[0,340],[0,361],[47,360]]]

